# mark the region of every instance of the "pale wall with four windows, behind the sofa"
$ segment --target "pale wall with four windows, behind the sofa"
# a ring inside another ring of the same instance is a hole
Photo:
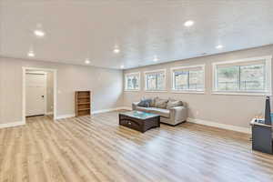
[[[212,121],[219,124],[249,127],[249,121],[252,117],[263,113],[265,109],[265,96],[223,96],[212,95],[212,66],[213,62],[237,60],[241,58],[273,55],[273,45],[262,46],[258,48],[230,52],[215,56],[203,56],[187,60],[176,61],[167,64],[155,66],[144,66],[136,69],[129,69],[124,72],[141,72],[141,91],[125,92],[125,106],[131,106],[132,102],[138,101],[141,97],[161,96],[172,97],[187,102],[188,116],[206,121]],[[172,93],[170,67],[189,66],[206,64],[206,93],[205,94],[175,94]],[[167,69],[167,92],[166,93],[148,93],[144,91],[145,80],[144,71],[155,69]],[[273,101],[272,101],[273,102]]]

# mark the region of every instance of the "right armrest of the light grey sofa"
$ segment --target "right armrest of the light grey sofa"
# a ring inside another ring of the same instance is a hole
[[[182,122],[187,120],[187,107],[186,106],[174,106],[169,109],[170,119],[174,122]]]

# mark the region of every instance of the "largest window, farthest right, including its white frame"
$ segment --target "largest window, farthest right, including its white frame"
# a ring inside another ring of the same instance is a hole
[[[271,94],[271,56],[214,63],[214,91]]]

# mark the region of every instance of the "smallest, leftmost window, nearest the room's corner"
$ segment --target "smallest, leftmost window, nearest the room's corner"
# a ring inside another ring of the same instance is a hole
[[[125,89],[127,91],[138,91],[140,88],[140,73],[126,74],[125,82]]]

